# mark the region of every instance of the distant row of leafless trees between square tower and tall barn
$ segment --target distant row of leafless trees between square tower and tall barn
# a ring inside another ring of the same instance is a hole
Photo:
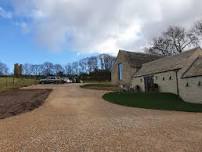
[[[69,63],[64,67],[60,64],[45,62],[43,64],[24,64],[24,75],[58,75],[67,74],[75,75],[80,73],[90,73],[99,70],[110,70],[115,61],[115,57],[108,54],[86,57],[79,61]]]

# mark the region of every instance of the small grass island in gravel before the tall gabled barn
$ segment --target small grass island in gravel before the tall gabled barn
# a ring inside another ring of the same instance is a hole
[[[112,85],[110,83],[91,83],[81,85],[81,88],[85,89],[95,89],[95,90],[107,90],[107,91],[118,91],[118,86]]]

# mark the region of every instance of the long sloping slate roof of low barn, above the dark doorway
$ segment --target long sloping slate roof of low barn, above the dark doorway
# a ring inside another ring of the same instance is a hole
[[[185,66],[187,59],[198,50],[199,48],[195,48],[185,51],[179,55],[163,57],[158,60],[145,63],[135,74],[135,77],[181,69]]]

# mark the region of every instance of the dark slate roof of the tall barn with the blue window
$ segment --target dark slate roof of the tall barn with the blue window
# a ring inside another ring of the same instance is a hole
[[[139,52],[129,52],[125,50],[120,50],[120,53],[126,56],[127,61],[131,67],[137,67],[137,68],[140,68],[144,63],[151,62],[162,57],[159,55],[151,55]]]

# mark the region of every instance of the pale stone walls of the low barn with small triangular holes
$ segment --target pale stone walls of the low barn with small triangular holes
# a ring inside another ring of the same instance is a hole
[[[181,73],[179,71],[179,73]],[[179,96],[186,102],[202,104],[202,76],[192,78],[181,78],[178,73]],[[177,94],[176,72],[164,72],[154,75],[154,83],[158,84],[160,92],[168,92]],[[137,77],[132,79],[132,87],[140,86],[142,91],[144,88],[144,78]]]

